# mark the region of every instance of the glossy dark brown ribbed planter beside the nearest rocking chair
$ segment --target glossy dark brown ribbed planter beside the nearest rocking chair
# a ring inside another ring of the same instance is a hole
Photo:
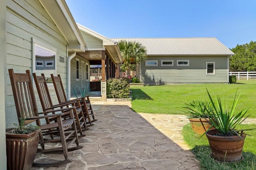
[[[6,156],[8,170],[30,170],[39,143],[39,132],[29,134],[6,133]]]

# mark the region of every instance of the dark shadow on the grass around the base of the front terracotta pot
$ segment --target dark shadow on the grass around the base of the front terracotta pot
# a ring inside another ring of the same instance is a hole
[[[210,147],[207,145],[195,146],[192,149],[195,157],[200,161],[201,170],[255,170],[256,155],[251,152],[243,152],[240,162],[222,163],[216,162],[210,157]]]

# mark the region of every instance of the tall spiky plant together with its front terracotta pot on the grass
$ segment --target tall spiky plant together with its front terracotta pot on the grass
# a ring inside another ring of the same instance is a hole
[[[217,97],[216,104],[214,104],[208,90],[207,93],[213,109],[207,109],[206,117],[209,123],[215,127],[213,130],[206,131],[212,157],[220,162],[236,162],[241,160],[246,134],[244,129],[237,129],[237,127],[249,116],[246,116],[248,108],[235,113],[240,97],[240,95],[237,97],[237,91],[230,108],[228,106],[225,108],[223,94],[222,98]]]

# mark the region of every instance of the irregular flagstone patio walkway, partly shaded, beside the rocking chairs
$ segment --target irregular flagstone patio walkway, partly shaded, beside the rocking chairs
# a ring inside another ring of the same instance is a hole
[[[198,170],[199,162],[184,144],[182,115],[136,113],[130,102],[93,102],[98,121],[79,139],[80,150],[69,152],[73,162],[40,170]],[[39,154],[36,158],[63,154]]]

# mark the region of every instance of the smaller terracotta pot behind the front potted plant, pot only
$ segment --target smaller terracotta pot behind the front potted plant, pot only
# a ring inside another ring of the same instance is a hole
[[[191,127],[199,135],[204,134],[211,126],[204,118],[189,118]]]

